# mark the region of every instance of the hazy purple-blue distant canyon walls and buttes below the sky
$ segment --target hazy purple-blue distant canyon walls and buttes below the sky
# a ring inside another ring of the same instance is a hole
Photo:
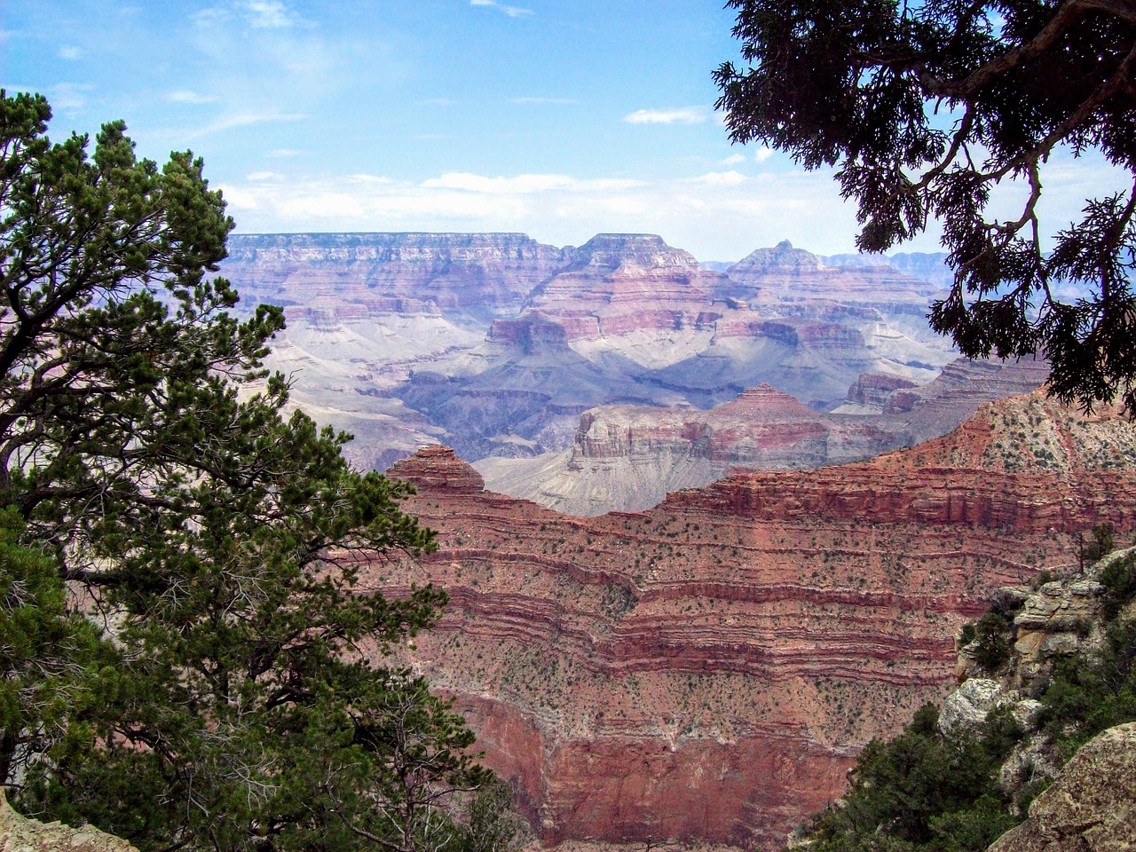
[[[925,437],[885,409],[917,400],[953,359],[925,319],[945,267],[941,256],[895,262],[924,277],[886,258],[824,260],[788,243],[708,269],[651,234],[563,248],[503,233],[237,234],[223,272],[245,309],[284,307],[289,327],[268,366],[292,378],[299,407],[356,436],[348,453],[360,467],[442,442],[496,490],[595,513],[710,482],[726,457],[817,465]],[[752,406],[737,399],[762,384],[843,418],[822,425],[824,453],[800,446],[788,461],[795,423],[780,434],[769,420],[768,440],[746,432]],[[957,406],[935,434],[993,398]],[[712,421],[717,444],[734,429],[740,448],[703,463],[698,448],[676,445],[649,469],[652,451],[633,441],[630,479],[610,453],[604,470],[576,463],[588,458],[587,433],[620,411],[658,415],[654,431],[667,432],[678,409],[712,411],[703,426]]]

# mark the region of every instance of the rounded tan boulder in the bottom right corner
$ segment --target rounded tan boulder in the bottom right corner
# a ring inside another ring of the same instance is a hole
[[[1029,817],[989,852],[1122,852],[1136,849],[1136,722],[1081,746]]]

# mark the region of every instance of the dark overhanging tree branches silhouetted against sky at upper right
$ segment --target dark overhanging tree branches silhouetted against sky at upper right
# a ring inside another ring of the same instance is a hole
[[[884,251],[932,217],[955,272],[932,326],[963,354],[1042,350],[1051,390],[1136,410],[1136,2],[728,0],[750,64],[716,72],[736,142],[836,166],[859,204],[858,244]],[[1060,149],[1097,151],[1116,192],[1043,250],[1038,201]],[[995,189],[1024,187],[1000,219]],[[1058,281],[1085,285],[1074,302]]]

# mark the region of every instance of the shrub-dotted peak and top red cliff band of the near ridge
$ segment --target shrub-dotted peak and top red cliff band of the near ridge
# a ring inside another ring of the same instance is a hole
[[[955,432],[909,451],[800,475],[741,474],[671,494],[660,509],[699,507],[758,520],[816,512],[1039,535],[1129,523],[1134,486],[1129,421],[1116,410],[1080,417],[1035,392],[985,406]]]

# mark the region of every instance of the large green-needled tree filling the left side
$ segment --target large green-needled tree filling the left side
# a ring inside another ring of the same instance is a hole
[[[444,595],[360,578],[433,546],[407,486],[286,414],[282,311],[209,277],[233,223],[201,161],[49,118],[0,91],[0,782],[142,849],[468,845],[470,732],[375,662]]]

